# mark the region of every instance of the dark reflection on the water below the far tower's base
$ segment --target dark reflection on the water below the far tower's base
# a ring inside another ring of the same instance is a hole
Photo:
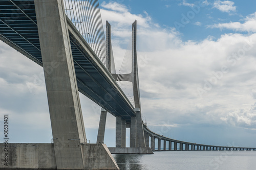
[[[141,159],[144,155],[117,154],[117,155],[113,155],[113,156],[121,170],[130,170],[130,169],[144,170],[144,169],[146,169],[146,167],[143,167],[143,164],[141,164]]]

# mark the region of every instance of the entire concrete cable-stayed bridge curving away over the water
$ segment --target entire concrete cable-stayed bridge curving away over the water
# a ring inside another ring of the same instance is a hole
[[[169,151],[172,144],[174,151],[256,150],[189,143],[149,130],[141,118],[136,31],[135,21],[131,49],[117,73],[111,26],[106,22],[105,35],[96,0],[0,1],[0,39],[44,67],[53,134],[52,144],[10,144],[8,168],[118,169],[110,152],[150,154],[155,139],[158,151],[161,140],[164,151],[166,141]],[[132,84],[132,100],[124,82]],[[102,107],[96,144],[87,143],[78,91]],[[116,117],[116,148],[103,144],[107,112]]]

